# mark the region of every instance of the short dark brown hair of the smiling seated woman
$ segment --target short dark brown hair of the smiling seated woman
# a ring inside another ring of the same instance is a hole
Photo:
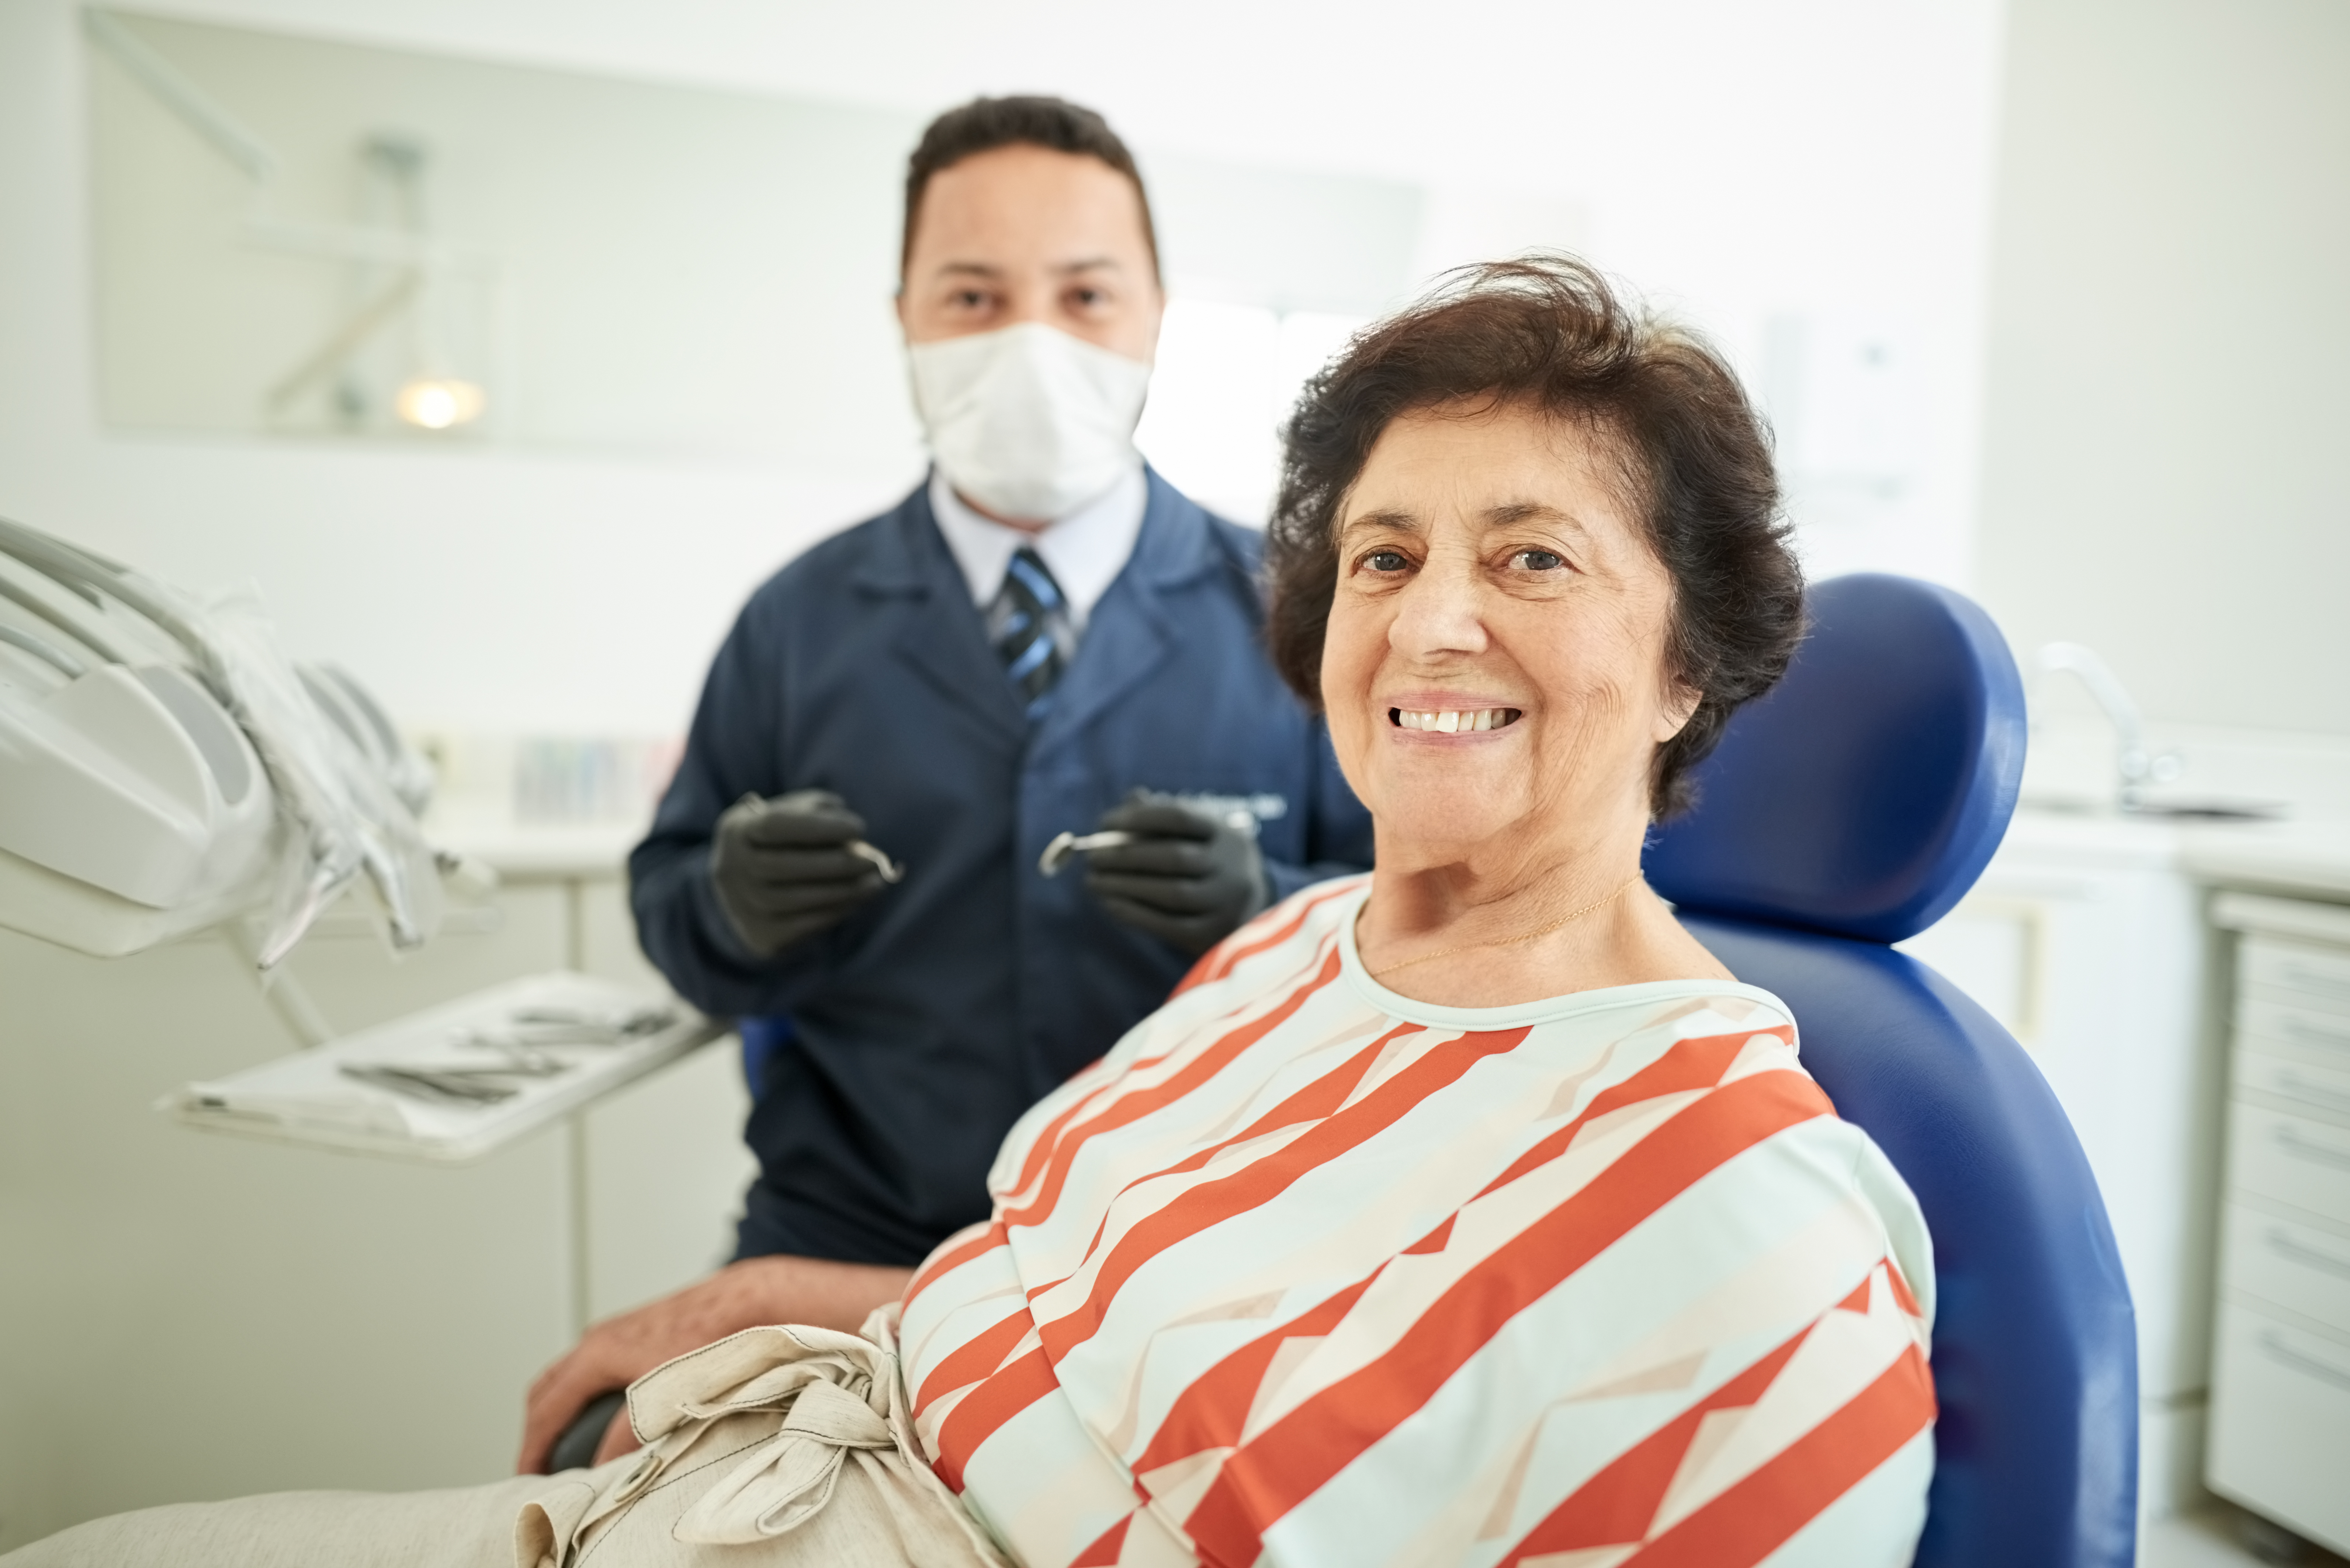
[[[1462,400],[1537,409],[1614,447],[1626,501],[1673,578],[1666,665],[1699,693],[1650,776],[1650,811],[1683,811],[1690,769],[1795,656],[1802,567],[1770,430],[1720,353],[1626,306],[1572,256],[1462,268],[1307,383],[1264,545],[1274,665],[1321,708],[1340,505],[1389,423]]]

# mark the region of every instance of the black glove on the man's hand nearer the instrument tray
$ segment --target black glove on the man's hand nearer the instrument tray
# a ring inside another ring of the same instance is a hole
[[[848,849],[865,818],[832,790],[743,797],[710,839],[710,882],[743,945],[773,957],[837,924],[886,882]]]

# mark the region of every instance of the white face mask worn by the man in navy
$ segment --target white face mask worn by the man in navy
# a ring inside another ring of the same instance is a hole
[[[912,343],[907,360],[931,456],[989,512],[1058,522],[1140,461],[1142,360],[1043,322]]]

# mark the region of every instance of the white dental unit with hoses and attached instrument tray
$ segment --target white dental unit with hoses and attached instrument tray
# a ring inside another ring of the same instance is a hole
[[[289,661],[249,595],[197,602],[0,520],[0,929],[127,957],[221,926],[303,1046],[181,1086],[157,1105],[181,1126],[465,1161],[724,1032],[550,971],[338,1037],[277,969],[331,900],[364,889],[411,950],[444,875],[496,882],[425,844],[432,783],[376,698]]]

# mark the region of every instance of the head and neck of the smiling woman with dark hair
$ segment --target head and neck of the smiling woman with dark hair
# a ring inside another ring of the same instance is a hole
[[[1485,1004],[1723,973],[1629,893],[1786,670],[1802,574],[1701,339],[1579,261],[1455,275],[1307,388],[1269,564],[1276,661],[1377,820],[1372,971],[1457,957],[1405,990]]]

